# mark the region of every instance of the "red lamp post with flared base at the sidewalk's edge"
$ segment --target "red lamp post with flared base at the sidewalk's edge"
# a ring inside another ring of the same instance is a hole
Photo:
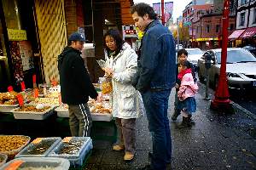
[[[211,108],[218,111],[230,112],[232,107],[230,105],[230,94],[228,90],[228,82],[226,76],[226,62],[227,62],[227,44],[228,44],[228,26],[229,26],[230,0],[224,0],[223,12],[223,37],[222,37],[222,51],[221,51],[221,66],[220,75],[218,78],[218,88],[215,92]]]

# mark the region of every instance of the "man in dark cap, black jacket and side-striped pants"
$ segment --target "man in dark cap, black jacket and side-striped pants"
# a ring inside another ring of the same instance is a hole
[[[87,102],[89,96],[97,99],[98,95],[81,57],[84,41],[79,32],[74,32],[58,58],[61,99],[68,105],[72,136],[90,136],[92,120]]]

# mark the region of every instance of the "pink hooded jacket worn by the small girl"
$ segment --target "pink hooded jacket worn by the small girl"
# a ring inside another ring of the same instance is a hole
[[[180,87],[177,92],[177,97],[180,101],[183,101],[189,97],[194,97],[197,93],[197,90],[198,86],[194,82],[192,74],[186,73],[182,78]]]

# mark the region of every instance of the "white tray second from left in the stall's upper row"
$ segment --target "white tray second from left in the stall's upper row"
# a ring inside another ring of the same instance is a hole
[[[54,114],[53,109],[54,106],[50,106],[50,108],[44,112],[35,112],[35,111],[15,111],[18,108],[15,108],[11,112],[13,112],[15,119],[32,119],[32,120],[44,120],[48,116]]]

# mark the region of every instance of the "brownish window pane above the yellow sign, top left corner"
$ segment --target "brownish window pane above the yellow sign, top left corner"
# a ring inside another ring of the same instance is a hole
[[[17,0],[2,0],[6,27],[20,30],[20,8]]]

